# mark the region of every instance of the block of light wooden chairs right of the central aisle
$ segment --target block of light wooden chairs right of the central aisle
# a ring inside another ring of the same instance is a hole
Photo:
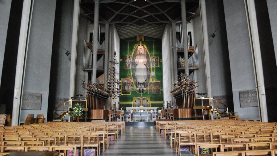
[[[270,150],[275,149],[277,145],[276,123],[237,120],[157,121],[156,128],[159,133],[163,132],[165,139],[169,136],[170,146],[174,145],[178,154],[181,154],[181,146],[190,146],[191,151],[199,154],[197,145],[201,144],[232,146],[239,143],[268,143],[267,149]],[[229,150],[224,147],[220,151],[223,152],[224,149]]]

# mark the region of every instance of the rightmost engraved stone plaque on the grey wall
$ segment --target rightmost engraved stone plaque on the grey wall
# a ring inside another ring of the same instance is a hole
[[[240,107],[258,107],[256,89],[239,91]]]

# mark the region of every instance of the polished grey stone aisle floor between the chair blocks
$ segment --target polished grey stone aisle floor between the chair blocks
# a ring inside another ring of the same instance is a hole
[[[163,137],[156,131],[156,126],[126,126],[126,131],[119,136],[115,142],[110,142],[110,148],[102,155],[178,155],[171,148],[169,141],[165,141]],[[191,156],[187,152],[182,155]]]

